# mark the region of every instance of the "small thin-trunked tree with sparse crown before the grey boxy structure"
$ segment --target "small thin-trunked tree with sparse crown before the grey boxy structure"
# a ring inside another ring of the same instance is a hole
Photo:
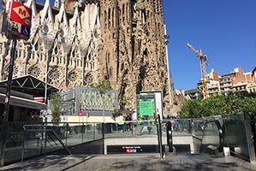
[[[105,122],[105,117],[104,117],[104,96],[110,96],[110,90],[111,90],[111,85],[109,80],[100,80],[98,83],[95,83],[92,85],[93,88],[97,91],[99,96],[101,97],[102,104],[103,104],[103,122]]]

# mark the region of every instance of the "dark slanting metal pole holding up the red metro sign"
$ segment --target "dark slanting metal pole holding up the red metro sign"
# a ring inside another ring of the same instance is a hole
[[[13,78],[13,71],[15,65],[15,52],[16,52],[16,44],[17,44],[17,36],[13,35],[13,42],[12,42],[12,50],[11,56],[9,61],[9,74],[8,74],[8,81],[6,87],[6,96],[4,98],[4,110],[3,110],[3,120],[2,120],[2,127],[1,127],[1,151],[0,151],[0,159],[1,164],[4,164],[4,156],[5,156],[5,148],[6,148],[6,137],[7,137],[7,123],[9,118],[9,99],[10,99],[10,90]]]

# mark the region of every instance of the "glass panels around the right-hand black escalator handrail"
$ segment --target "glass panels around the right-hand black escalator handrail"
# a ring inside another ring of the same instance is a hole
[[[250,161],[248,141],[252,139],[252,133],[250,133],[252,131],[248,131],[251,129],[246,127],[252,126],[249,125],[250,121],[246,121],[245,115],[216,116],[213,119],[205,123],[201,152],[207,145],[215,146],[219,151],[225,147],[229,148],[231,155]],[[219,123],[216,124],[216,122]],[[252,145],[250,148],[253,148]]]

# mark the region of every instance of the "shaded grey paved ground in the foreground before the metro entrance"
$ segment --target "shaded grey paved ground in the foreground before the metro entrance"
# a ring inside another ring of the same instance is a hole
[[[95,156],[41,156],[25,162],[17,162],[0,168],[6,171],[167,171],[167,170],[256,170],[256,166],[233,156],[209,156],[205,154],[167,156],[159,154],[122,154]]]

